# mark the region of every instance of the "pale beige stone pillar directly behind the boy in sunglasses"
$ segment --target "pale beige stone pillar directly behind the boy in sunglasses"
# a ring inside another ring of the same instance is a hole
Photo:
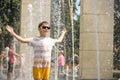
[[[43,7],[44,6],[44,7]],[[29,1],[21,3],[21,36],[33,37],[39,35],[38,24],[42,21],[50,21],[50,0]],[[32,62],[33,49],[27,44],[20,44],[20,53],[24,54],[21,80],[33,80]]]

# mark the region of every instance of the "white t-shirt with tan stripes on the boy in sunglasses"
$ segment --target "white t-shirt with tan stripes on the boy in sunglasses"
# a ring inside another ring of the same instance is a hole
[[[34,49],[33,67],[50,67],[51,50],[55,42],[56,39],[52,39],[50,37],[31,38],[29,45],[32,46]]]

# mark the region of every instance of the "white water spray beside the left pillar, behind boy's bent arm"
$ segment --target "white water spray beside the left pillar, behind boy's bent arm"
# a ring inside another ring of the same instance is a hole
[[[52,25],[52,37],[57,38],[60,35],[61,24],[61,15],[62,15],[62,0],[52,0],[51,2],[51,25]],[[57,24],[57,25],[56,25]],[[55,59],[53,60],[54,63],[51,67],[51,78],[54,80],[58,80],[58,50],[60,45],[55,46],[55,52],[52,54],[52,57]],[[52,80],[51,79],[51,80]]]

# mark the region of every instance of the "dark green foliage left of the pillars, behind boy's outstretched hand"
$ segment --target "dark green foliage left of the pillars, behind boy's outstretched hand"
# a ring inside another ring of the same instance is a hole
[[[4,49],[13,41],[12,36],[6,31],[8,24],[19,34],[20,25],[20,0],[1,0],[0,1],[0,28],[3,33],[0,35],[0,50]]]

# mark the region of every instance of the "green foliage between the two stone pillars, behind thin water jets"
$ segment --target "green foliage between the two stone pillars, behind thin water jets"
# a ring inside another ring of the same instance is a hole
[[[72,28],[70,26],[70,13],[68,7],[68,0],[65,0],[65,25],[67,28],[66,33],[66,59],[72,57],[72,47],[74,47],[74,53],[79,55],[79,30],[80,30],[80,15],[76,13],[76,1],[73,0],[73,17],[77,16],[76,19],[73,18],[74,26],[74,46],[72,46]],[[68,61],[68,60],[66,60]]]

